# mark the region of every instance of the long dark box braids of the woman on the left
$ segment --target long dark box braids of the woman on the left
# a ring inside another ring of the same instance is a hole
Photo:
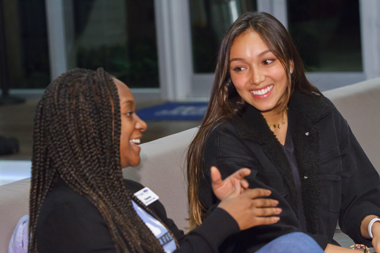
[[[102,68],[74,69],[50,83],[34,118],[29,253],[37,252],[41,205],[59,177],[97,207],[117,252],[164,252],[131,200],[141,202],[124,185],[120,131],[118,90]]]

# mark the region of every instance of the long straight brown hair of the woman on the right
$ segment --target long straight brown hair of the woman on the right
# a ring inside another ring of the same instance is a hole
[[[223,37],[218,52],[209,106],[197,135],[187,151],[187,197],[190,205],[190,228],[198,227],[205,216],[205,208],[198,195],[199,179],[204,168],[202,167],[204,144],[208,133],[217,121],[231,118],[238,114],[246,102],[239,96],[230,76],[230,51],[234,39],[245,31],[257,32],[265,45],[281,61],[287,75],[287,88],[275,107],[277,111],[284,111],[293,90],[307,90],[321,95],[305,76],[302,60],[293,40],[285,27],[272,15],[264,12],[247,12],[240,16],[229,28]],[[293,73],[290,74],[291,63]]]

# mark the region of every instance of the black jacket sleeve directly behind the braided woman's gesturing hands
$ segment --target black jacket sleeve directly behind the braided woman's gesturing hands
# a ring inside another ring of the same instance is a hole
[[[260,178],[258,172],[261,165],[254,158],[255,155],[260,154],[251,154],[245,145],[239,138],[234,126],[229,123],[221,124],[210,132],[205,145],[204,175],[201,175],[199,195],[206,209],[219,202],[212,192],[210,183],[210,167],[213,165],[219,169],[223,179],[240,168],[247,167],[251,170],[251,174],[246,177],[249,188],[264,188],[272,191],[269,198],[278,200],[278,207],[282,208],[282,213],[279,215],[280,221],[276,224],[253,227],[239,233],[240,242],[246,246],[248,251],[254,252],[277,237],[302,231],[293,209],[284,198],[283,192],[270,187],[268,182],[264,182]],[[250,145],[259,146],[256,143],[251,143]],[[260,149],[260,147],[257,148]],[[281,180],[279,178],[279,183],[281,183]],[[327,236],[311,236],[323,249],[326,248],[328,243]],[[252,240],[252,238],[255,238],[255,240]]]

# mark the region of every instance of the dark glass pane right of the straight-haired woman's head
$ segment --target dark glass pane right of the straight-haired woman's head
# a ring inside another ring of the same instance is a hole
[[[307,71],[363,71],[359,0],[288,0],[288,30]]]

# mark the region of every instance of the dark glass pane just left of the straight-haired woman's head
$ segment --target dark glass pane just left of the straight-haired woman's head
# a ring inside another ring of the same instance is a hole
[[[256,9],[256,0],[190,0],[195,73],[215,71],[224,33],[241,14]]]

